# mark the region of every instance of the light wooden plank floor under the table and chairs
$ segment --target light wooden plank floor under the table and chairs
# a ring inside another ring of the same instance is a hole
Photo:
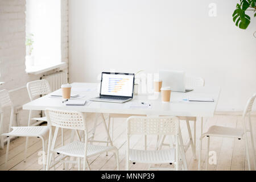
[[[88,115],[88,125],[92,127],[92,121],[94,114]],[[252,117],[252,125],[254,130],[254,141],[256,135],[256,117]],[[209,126],[220,125],[229,127],[242,127],[242,117],[237,115],[216,115],[213,118],[204,118],[203,130],[207,131]],[[197,140],[196,140],[196,155],[198,159],[199,153],[199,135],[200,135],[200,122],[197,122]],[[193,125],[191,124],[191,130],[193,131]],[[183,140],[185,143],[188,141],[188,132],[185,122],[181,121],[181,133],[183,135]],[[64,130],[64,139],[67,143],[71,135],[70,131]],[[3,150],[0,150],[0,170],[43,170],[42,165],[39,164],[40,151],[42,150],[42,142],[39,138],[30,138],[29,148],[28,148],[28,158],[26,162],[23,162],[24,156],[24,137],[19,137],[10,144],[9,161],[6,165],[5,162],[5,152],[6,146]],[[98,126],[96,130],[95,139],[106,139],[106,134],[104,126],[98,121]],[[154,149],[156,143],[156,137],[148,137],[147,145],[149,149]],[[125,169],[125,151],[126,151],[126,122],[123,118],[114,119],[114,146],[119,150],[119,166],[121,170]],[[57,140],[56,145],[60,146],[60,137]],[[95,143],[96,144],[96,143]],[[98,143],[100,144],[100,143]],[[133,148],[143,149],[143,138],[132,138],[131,145]],[[205,168],[205,148],[206,140],[203,140],[203,150],[201,165],[202,169]],[[210,151],[215,151],[217,154],[217,163],[209,165],[209,170],[247,170],[247,160],[245,158],[245,141],[243,139],[232,139],[232,138],[210,138]],[[250,148],[250,159],[252,159],[252,152]],[[192,158],[191,148],[186,152],[188,169],[197,170],[198,160]],[[252,160],[251,160],[252,161]],[[112,153],[101,154],[89,158],[89,164],[92,170],[115,170],[115,158]],[[159,166],[159,165],[158,165]],[[160,167],[170,167],[170,164],[161,164]],[[63,170],[63,165],[58,164],[56,166],[57,170]],[[131,164],[131,170],[147,170],[147,164]],[[251,164],[251,169],[254,169],[253,163]],[[71,168],[69,170],[77,170],[77,167]]]

